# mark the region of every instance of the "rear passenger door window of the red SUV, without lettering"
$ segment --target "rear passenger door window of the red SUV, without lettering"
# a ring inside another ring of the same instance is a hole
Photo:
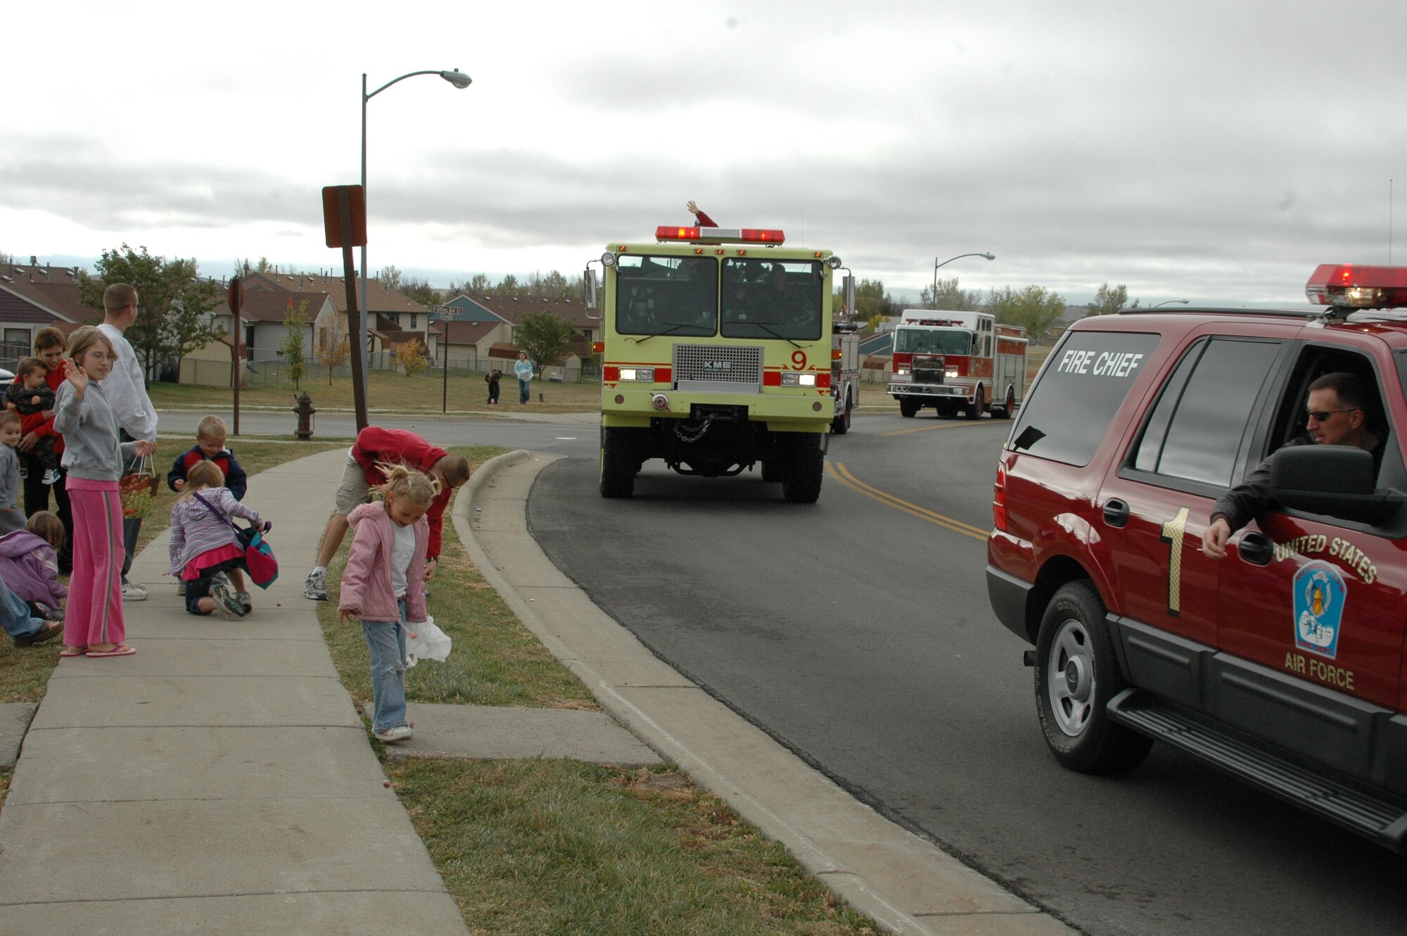
[[[1231,338],[1189,348],[1148,418],[1134,467],[1228,487],[1279,350],[1279,342]]]

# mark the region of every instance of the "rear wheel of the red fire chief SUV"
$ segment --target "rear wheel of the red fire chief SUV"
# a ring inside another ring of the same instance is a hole
[[[1065,767],[1116,774],[1142,763],[1152,740],[1110,721],[1124,690],[1104,602],[1088,581],[1071,581],[1045,605],[1036,638],[1036,711],[1051,753]]]

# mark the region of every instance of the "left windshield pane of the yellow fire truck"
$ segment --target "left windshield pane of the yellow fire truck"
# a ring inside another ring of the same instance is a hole
[[[718,260],[622,255],[616,269],[615,325],[622,335],[716,335]]]

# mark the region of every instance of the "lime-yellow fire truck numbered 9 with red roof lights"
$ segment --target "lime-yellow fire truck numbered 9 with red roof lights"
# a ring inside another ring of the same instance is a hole
[[[830,393],[830,251],[778,229],[661,227],[587,270],[601,308],[601,495],[649,459],[720,477],[761,466],[798,504],[820,495]],[[853,289],[851,277],[846,277]],[[851,304],[853,307],[853,304]]]

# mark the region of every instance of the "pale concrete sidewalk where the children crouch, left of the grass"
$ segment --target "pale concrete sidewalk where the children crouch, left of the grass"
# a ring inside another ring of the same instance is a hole
[[[283,573],[186,614],[166,536],[136,656],[62,660],[0,811],[0,933],[467,933],[303,597],[345,450],[250,479]]]

